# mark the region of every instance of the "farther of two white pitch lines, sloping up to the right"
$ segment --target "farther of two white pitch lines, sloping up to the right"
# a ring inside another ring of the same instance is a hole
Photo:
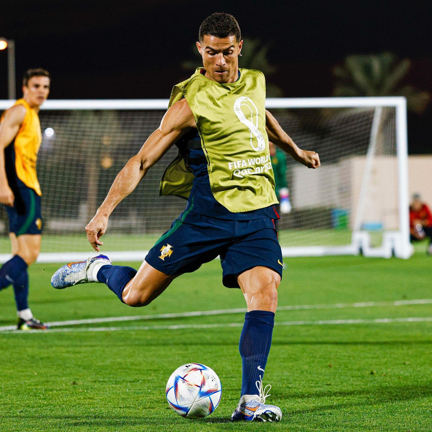
[[[432,304],[432,299],[415,299],[415,300],[394,300],[392,302],[333,303],[328,305],[326,304],[289,305],[289,306],[279,306],[277,310],[278,311],[304,311],[304,310],[317,310],[317,309],[370,308],[370,307],[430,305],[430,304]],[[53,321],[49,323],[49,325],[50,327],[59,327],[65,325],[109,323],[115,321],[146,321],[146,320],[169,319],[169,318],[203,317],[203,316],[212,316],[212,315],[240,314],[240,313],[244,313],[245,311],[246,311],[245,308],[235,308],[235,309],[216,309],[213,311],[177,312],[171,314],[149,314],[149,315],[132,315],[132,316],[124,316],[124,317],[87,318],[81,320]],[[15,326],[0,327],[0,331],[8,331],[14,329]]]

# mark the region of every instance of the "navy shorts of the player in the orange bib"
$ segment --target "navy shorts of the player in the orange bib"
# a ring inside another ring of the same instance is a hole
[[[14,232],[17,237],[22,234],[41,234],[41,197],[30,187],[19,187],[13,194],[13,207],[5,206],[9,216],[9,232]]]

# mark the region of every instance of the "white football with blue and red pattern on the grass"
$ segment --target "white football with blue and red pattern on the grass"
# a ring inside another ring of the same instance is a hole
[[[169,406],[177,414],[188,419],[202,419],[219,405],[222,384],[209,367],[187,363],[169,377],[165,394]]]

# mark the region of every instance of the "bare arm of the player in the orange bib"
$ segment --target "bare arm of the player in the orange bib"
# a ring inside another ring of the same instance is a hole
[[[25,117],[25,108],[15,106],[6,111],[0,126],[0,203],[13,206],[14,196],[6,177],[4,149],[13,141]]]

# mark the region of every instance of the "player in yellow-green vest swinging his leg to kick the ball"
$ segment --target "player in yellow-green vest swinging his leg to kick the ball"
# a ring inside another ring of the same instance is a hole
[[[160,193],[186,198],[186,209],[140,269],[111,265],[99,255],[61,267],[51,283],[65,288],[101,282],[127,305],[145,306],[177,276],[220,255],[222,283],[240,288],[248,307],[239,344],[241,398],[232,420],[278,421],[281,410],[266,403],[262,388],[283,266],[268,140],[309,168],[320,162],[317,153],[299,149],[265,110],[263,74],[238,68],[242,43],[232,15],[214,13],[203,21],[197,42],[203,68],[174,86],[160,127],[118,174],[86,226],[99,251],[115,206],[175,144],[178,156],[165,170]]]

